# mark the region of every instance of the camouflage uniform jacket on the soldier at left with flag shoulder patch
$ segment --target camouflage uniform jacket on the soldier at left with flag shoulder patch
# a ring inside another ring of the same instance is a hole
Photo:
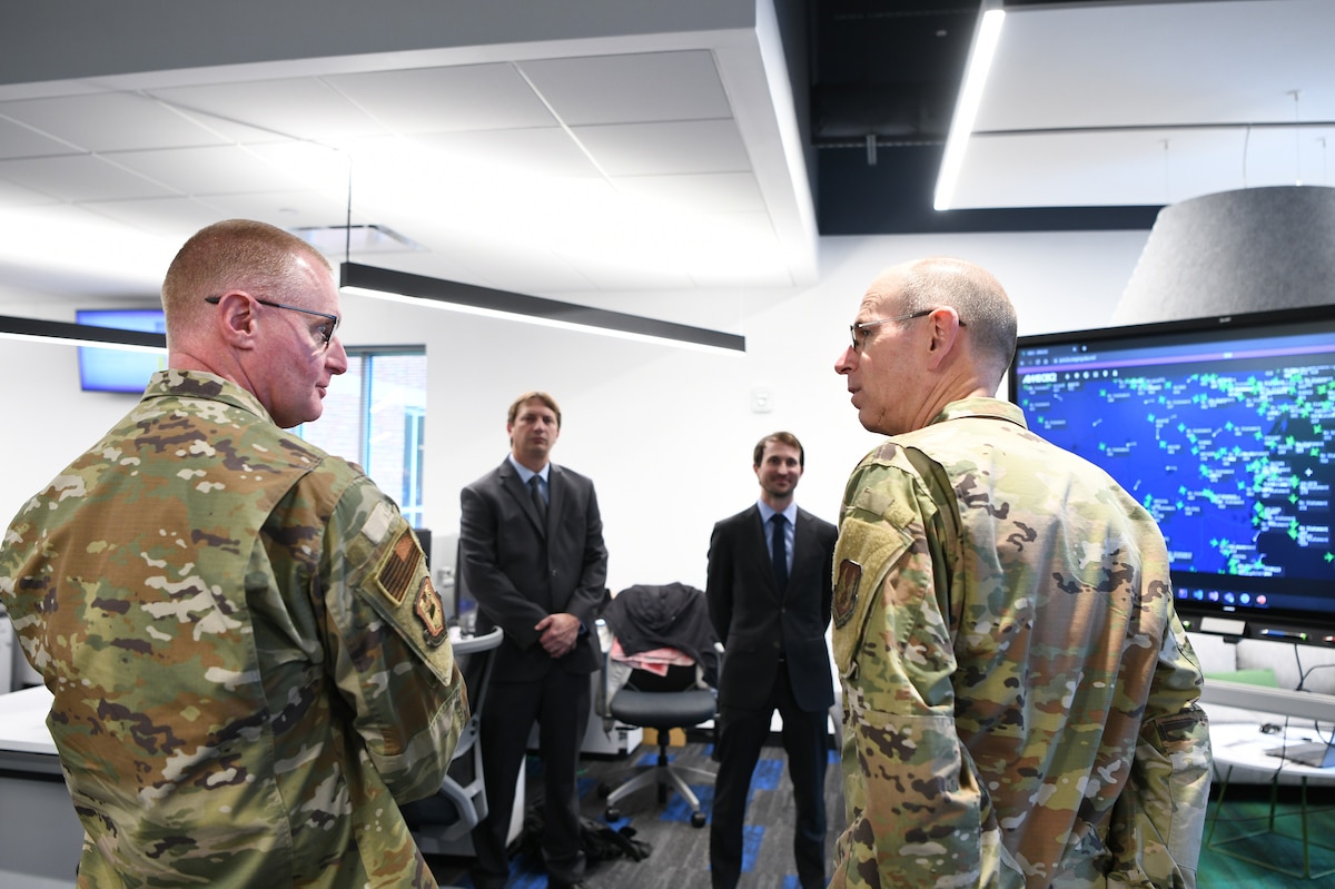
[[[80,886],[435,886],[395,806],[467,718],[394,503],[218,376],[163,371],[16,517]]]

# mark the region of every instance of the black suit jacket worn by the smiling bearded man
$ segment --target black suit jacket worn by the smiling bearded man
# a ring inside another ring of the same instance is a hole
[[[760,507],[752,506],[714,525],[709,541],[705,595],[714,631],[724,641],[718,703],[754,706],[757,689],[773,686],[782,655],[797,705],[808,711],[829,709],[834,683],[825,629],[838,530],[797,510],[793,569],[782,595],[765,533]]]

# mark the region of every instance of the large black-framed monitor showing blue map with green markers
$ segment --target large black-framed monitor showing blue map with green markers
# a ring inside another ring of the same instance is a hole
[[[1335,306],[1021,336],[1009,394],[1153,514],[1189,629],[1335,646]]]

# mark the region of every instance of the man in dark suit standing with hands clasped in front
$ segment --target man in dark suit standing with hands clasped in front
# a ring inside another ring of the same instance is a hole
[[[499,889],[529,731],[543,764],[542,856],[554,889],[583,885],[575,768],[589,722],[589,674],[599,667],[593,621],[606,594],[607,550],[593,482],[550,462],[561,410],[526,392],[506,420],[510,455],[461,495],[461,570],[478,601],[478,631],[499,626],[482,768],[489,813],[473,830],[473,884]]]

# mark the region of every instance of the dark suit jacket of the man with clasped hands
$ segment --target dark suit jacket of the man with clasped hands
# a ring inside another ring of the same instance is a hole
[[[593,673],[602,662],[593,631],[607,582],[598,498],[591,481],[555,463],[547,485],[546,527],[509,459],[459,495],[459,570],[478,601],[478,633],[505,630],[491,673],[498,682],[538,679],[554,666]],[[587,631],[554,659],[534,626],[563,611]]]

